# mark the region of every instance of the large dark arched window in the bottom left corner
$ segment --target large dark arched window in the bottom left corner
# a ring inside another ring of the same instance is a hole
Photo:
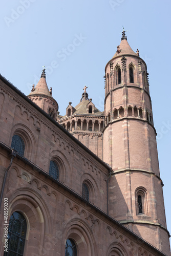
[[[26,240],[27,223],[20,212],[13,212],[8,226],[8,252],[4,256],[23,256]]]

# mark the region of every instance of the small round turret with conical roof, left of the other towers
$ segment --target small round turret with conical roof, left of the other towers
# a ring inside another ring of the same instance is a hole
[[[31,90],[28,98],[36,103],[42,110],[48,113],[53,119],[56,120],[56,113],[58,111],[58,103],[52,97],[52,87],[48,89],[46,82],[45,69],[41,73],[40,80],[38,81],[36,87]]]

